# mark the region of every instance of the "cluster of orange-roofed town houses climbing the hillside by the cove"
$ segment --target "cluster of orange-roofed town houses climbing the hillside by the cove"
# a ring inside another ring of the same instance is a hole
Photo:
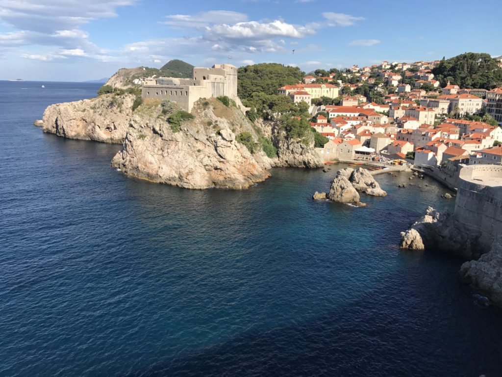
[[[311,127],[328,139],[316,148],[325,162],[399,160],[455,171],[459,164],[502,163],[502,128],[472,120],[488,114],[502,124],[502,87],[441,87],[432,73],[439,63],[353,65],[307,75],[278,92],[311,105]],[[380,93],[380,103],[356,90],[366,83]],[[336,105],[322,104],[322,97]]]

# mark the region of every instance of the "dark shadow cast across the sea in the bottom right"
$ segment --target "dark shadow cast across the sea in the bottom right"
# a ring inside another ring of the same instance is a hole
[[[417,259],[413,268],[427,275],[420,265],[423,257],[400,256]],[[452,263],[441,255],[425,257],[433,263]],[[438,300],[448,298],[417,295],[413,287],[418,284],[412,281],[416,275],[397,273],[389,276],[388,285],[365,292],[343,308],[306,321],[292,321],[288,326],[246,332],[199,351],[166,358],[146,370],[131,371],[128,377],[502,375],[500,329],[492,331],[482,324],[499,321],[500,311],[493,307],[472,311],[475,298],[460,282],[458,290],[464,294],[455,302],[439,304]],[[448,284],[452,277],[448,273],[438,284]],[[398,300],[408,302],[403,305]],[[438,305],[445,304],[455,312],[440,317]],[[476,343],[468,341],[470,331],[477,332]],[[460,356],[473,349],[476,358]]]

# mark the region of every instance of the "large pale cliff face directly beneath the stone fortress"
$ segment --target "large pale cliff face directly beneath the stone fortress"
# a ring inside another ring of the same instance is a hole
[[[243,189],[270,176],[273,161],[258,147],[251,154],[236,140],[242,132],[258,139],[238,109],[201,100],[192,114],[195,118],[174,132],[160,106],[140,106],[112,165],[131,176],[189,189]]]

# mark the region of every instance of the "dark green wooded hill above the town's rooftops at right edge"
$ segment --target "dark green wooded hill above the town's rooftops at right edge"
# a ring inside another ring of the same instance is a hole
[[[465,88],[492,89],[502,85],[502,68],[489,54],[466,52],[443,59],[432,70],[441,86],[456,84]]]

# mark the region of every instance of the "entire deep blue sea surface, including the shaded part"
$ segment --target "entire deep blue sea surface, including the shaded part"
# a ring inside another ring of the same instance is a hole
[[[119,145],[32,125],[98,87],[0,81],[0,375],[502,375],[502,313],[462,260],[396,247],[452,207],[436,182],[383,174],[389,196],[353,208],[310,199],[336,167],[244,191],[128,178]]]

